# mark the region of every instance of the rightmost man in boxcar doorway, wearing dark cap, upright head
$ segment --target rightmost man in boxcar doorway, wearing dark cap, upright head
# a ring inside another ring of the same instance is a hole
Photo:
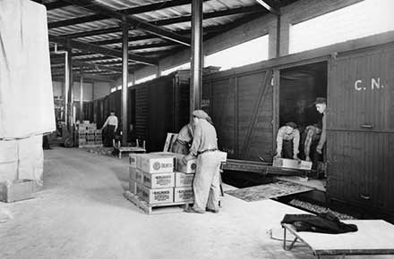
[[[313,150],[313,164],[321,160],[322,149],[326,143],[326,109],[327,101],[326,98],[317,97],[313,103],[316,106],[316,110],[322,114],[321,122],[306,127],[305,139],[304,139],[304,155],[306,161],[312,161],[311,159],[311,146],[316,146]],[[317,145],[316,145],[317,144]]]

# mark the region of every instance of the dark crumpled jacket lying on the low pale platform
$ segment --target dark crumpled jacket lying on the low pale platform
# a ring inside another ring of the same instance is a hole
[[[357,231],[354,224],[345,224],[332,213],[286,214],[282,223],[293,224],[297,231],[340,234]]]

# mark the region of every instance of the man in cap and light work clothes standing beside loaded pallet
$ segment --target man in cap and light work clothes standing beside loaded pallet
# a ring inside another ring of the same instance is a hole
[[[184,162],[197,156],[197,167],[193,180],[194,205],[186,209],[187,213],[218,213],[221,158],[216,129],[208,118],[202,110],[193,112],[194,138]]]

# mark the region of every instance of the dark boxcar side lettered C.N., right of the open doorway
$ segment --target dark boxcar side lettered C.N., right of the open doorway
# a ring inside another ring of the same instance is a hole
[[[328,195],[393,215],[394,44],[333,57],[328,89]]]

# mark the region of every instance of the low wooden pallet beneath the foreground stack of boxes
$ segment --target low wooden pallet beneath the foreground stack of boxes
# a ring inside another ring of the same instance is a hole
[[[179,202],[150,205],[146,201],[142,200],[140,196],[136,196],[128,190],[124,192],[124,197],[147,214],[179,213],[183,212],[184,208],[190,204],[189,202]]]

